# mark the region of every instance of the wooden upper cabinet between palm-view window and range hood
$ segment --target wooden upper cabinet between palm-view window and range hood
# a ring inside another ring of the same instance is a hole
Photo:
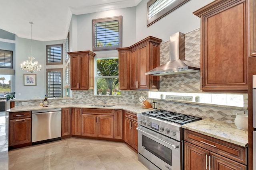
[[[118,48],[119,88],[122,90],[159,89],[159,76],[145,75],[160,65],[162,39],[149,36],[126,48]]]

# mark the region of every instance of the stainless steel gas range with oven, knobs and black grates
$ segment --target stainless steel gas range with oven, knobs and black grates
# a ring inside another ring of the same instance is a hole
[[[150,170],[182,170],[182,125],[202,118],[166,110],[137,116],[138,160]]]

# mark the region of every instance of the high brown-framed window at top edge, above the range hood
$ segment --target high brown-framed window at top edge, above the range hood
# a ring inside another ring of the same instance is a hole
[[[147,27],[189,0],[150,0],[147,3]]]

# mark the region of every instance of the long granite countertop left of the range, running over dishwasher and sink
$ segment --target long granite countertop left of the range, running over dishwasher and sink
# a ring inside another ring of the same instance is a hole
[[[90,106],[91,104],[50,104],[48,107],[42,106],[15,106],[11,109],[8,109],[7,112],[16,112],[16,111],[32,111],[39,109],[57,109],[57,108],[66,108],[66,107],[78,107],[78,108],[94,108],[94,109],[123,109],[131,113],[140,114],[145,111],[150,111],[152,109],[144,109],[139,105],[115,105],[111,107],[102,107],[102,106]]]

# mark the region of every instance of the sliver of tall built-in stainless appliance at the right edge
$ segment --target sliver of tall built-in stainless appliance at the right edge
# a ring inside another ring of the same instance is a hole
[[[252,75],[253,169],[256,170],[256,75]]]

